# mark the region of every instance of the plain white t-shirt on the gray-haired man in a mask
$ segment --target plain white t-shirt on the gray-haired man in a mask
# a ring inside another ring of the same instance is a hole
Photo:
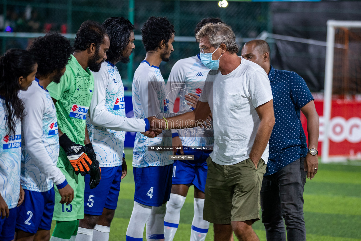
[[[220,165],[249,158],[260,125],[255,108],[273,99],[266,72],[258,64],[241,59],[241,64],[229,74],[210,70],[199,98],[208,102],[213,114],[215,140],[210,157]],[[262,155],[265,163],[268,155],[267,144]]]

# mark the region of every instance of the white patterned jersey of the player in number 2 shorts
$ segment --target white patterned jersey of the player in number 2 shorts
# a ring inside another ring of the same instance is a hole
[[[35,79],[20,98],[27,113],[22,121],[21,186],[30,191],[48,191],[65,181],[56,167],[59,135],[56,109],[49,92]],[[36,96],[36,98],[34,98]]]

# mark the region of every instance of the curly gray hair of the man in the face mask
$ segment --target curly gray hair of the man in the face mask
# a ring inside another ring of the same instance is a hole
[[[225,23],[207,23],[197,32],[197,42],[203,37],[208,37],[209,43],[214,47],[224,43],[230,53],[238,53],[239,51],[236,36],[231,27]]]

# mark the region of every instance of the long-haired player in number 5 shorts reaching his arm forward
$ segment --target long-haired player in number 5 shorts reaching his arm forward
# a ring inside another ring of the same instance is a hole
[[[93,72],[93,98],[86,119],[102,178],[94,189],[85,186],[85,216],[79,222],[77,241],[109,240],[120,182],[127,174],[123,152],[125,132],[149,130],[148,119],[125,116],[124,87],[115,66],[118,62],[130,61],[129,56],[135,48],[134,25],[123,17],[110,17],[103,26],[108,31],[110,48],[100,71]],[[153,137],[153,132],[149,133],[149,137]],[[85,181],[89,180],[90,177],[85,176]]]

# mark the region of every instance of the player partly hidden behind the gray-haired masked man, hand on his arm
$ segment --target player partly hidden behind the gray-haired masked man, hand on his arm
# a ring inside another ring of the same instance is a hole
[[[196,26],[194,34],[207,23],[222,22],[219,18],[203,18]],[[188,93],[200,95],[209,69],[200,59],[200,53],[174,64],[167,81],[167,91],[170,110],[179,94],[179,109],[186,111],[185,95]],[[214,137],[211,126],[206,128],[191,128],[172,130],[172,146],[176,147],[213,147]],[[177,151],[173,151],[175,155]],[[208,233],[209,222],[203,219],[204,186],[207,178],[207,163],[211,150],[180,150],[179,154],[193,155],[193,160],[174,160],[172,190],[167,202],[167,212],[164,217],[165,241],[173,241],[177,232],[181,209],[186,201],[189,187],[194,185],[194,216],[191,226],[191,241],[204,241]]]

